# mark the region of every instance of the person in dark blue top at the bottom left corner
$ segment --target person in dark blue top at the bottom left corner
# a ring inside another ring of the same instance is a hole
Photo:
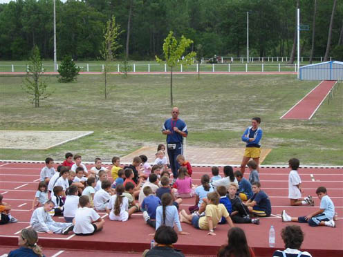
[[[18,237],[19,249],[10,251],[8,257],[44,257],[41,247],[37,245],[38,234],[33,229],[22,229]]]

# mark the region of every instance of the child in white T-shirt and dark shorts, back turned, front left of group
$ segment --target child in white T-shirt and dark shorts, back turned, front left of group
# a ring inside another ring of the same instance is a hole
[[[91,236],[95,232],[101,231],[105,221],[90,208],[91,203],[88,196],[81,196],[79,205],[80,208],[75,213],[74,233],[77,236]]]

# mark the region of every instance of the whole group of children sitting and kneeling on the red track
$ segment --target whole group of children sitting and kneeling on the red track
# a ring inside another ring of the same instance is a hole
[[[106,211],[109,220],[125,222],[132,213],[142,211],[147,225],[158,229],[161,225],[176,227],[183,231],[181,222],[193,225],[196,229],[208,230],[215,236],[218,224],[253,223],[259,225],[258,217],[268,217],[272,212],[268,195],[261,190],[257,164],[248,162],[249,178],[241,171],[233,171],[232,166],[224,166],[223,178],[219,168],[212,167],[212,177],[204,174],[201,185],[192,183],[192,165],[178,155],[178,177],[170,180],[170,173],[163,147],[159,146],[153,166],[147,156],[133,158],[130,165],[120,165],[120,158],[112,158],[112,169],[102,166],[102,160],[95,158],[95,166],[89,171],[82,164],[80,155],[66,153],[66,160],[54,169],[54,160],[46,158],[46,166],[41,169],[41,181],[33,200],[33,215],[30,225],[36,231],[49,234],[68,234],[73,231],[80,236],[88,236],[104,227],[96,211]],[[75,162],[73,162],[73,160]],[[301,198],[301,180],[297,169],[299,160],[290,159],[289,196],[291,205],[314,205],[313,198]],[[111,174],[113,182],[108,175]],[[172,181],[172,183],[171,183]],[[50,193],[50,199],[49,199]],[[324,187],[316,191],[321,199],[320,209],[308,216],[292,218],[282,212],[284,222],[308,222],[310,226],[326,225],[335,227],[333,202]],[[195,197],[194,206],[189,213],[179,211],[183,198]],[[16,222],[10,216],[10,205],[2,202],[0,194],[1,224]],[[41,207],[39,207],[41,206]],[[37,207],[37,209],[35,209]],[[55,222],[51,216],[64,216],[66,222]]]

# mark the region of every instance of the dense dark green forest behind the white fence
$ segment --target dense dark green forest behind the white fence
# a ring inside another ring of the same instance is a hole
[[[56,0],[57,59],[101,58],[106,22],[124,30],[120,55],[155,59],[174,31],[201,45],[205,57],[245,57],[249,12],[250,56],[295,57],[296,8],[301,10],[301,55],[343,58],[343,1],[337,0]],[[53,58],[53,0],[0,4],[0,59],[27,59],[37,45]],[[342,60],[342,59],[341,59]]]

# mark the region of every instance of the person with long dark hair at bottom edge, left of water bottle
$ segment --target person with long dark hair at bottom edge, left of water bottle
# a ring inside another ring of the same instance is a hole
[[[219,257],[251,257],[245,233],[240,227],[228,231],[228,245],[219,249]]]

